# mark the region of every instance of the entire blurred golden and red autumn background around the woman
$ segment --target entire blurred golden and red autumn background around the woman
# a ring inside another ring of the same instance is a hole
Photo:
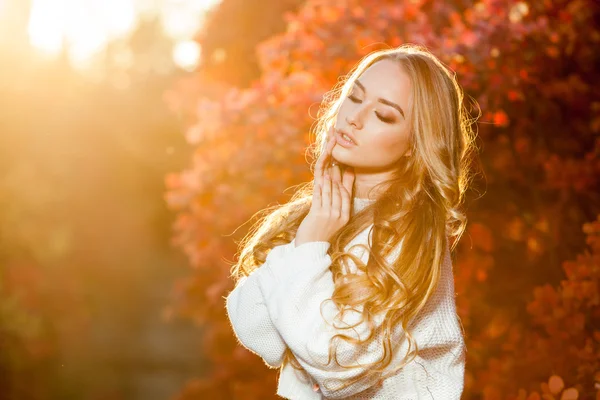
[[[226,319],[236,241],[402,43],[482,111],[463,397],[600,399],[595,0],[0,0],[0,399],[276,398]]]

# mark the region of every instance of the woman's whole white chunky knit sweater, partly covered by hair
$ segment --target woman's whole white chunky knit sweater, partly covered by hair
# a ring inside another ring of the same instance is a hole
[[[354,198],[353,213],[368,202]],[[367,244],[370,233],[370,227],[365,229],[348,244],[346,251],[356,243]],[[284,350],[289,347],[308,373],[306,380],[291,365],[281,368],[277,394],[291,400],[460,400],[466,348],[456,314],[449,251],[436,292],[409,325],[419,347],[417,357],[381,383],[362,379],[343,390],[336,390],[338,382],[358,375],[364,368],[345,370],[333,360],[327,365],[331,337],[341,332],[365,338],[368,330],[366,324],[358,325],[354,334],[352,330],[336,329],[332,325],[340,326],[339,320],[333,322],[337,307],[331,301],[320,307],[334,290],[329,269],[331,257],[327,254],[329,246],[329,242],[308,242],[296,247],[295,240],[276,246],[267,255],[265,263],[241,279],[227,296],[227,314],[244,347],[273,368],[281,366]],[[398,251],[390,255],[388,262]],[[351,252],[367,262],[368,253],[363,249],[352,249]],[[348,264],[356,273],[354,263],[348,260]],[[358,317],[357,312],[345,314],[343,322],[353,324]],[[376,317],[375,322],[380,324],[382,318]],[[407,353],[408,340],[402,333],[401,327],[394,331],[394,357],[390,367],[397,365]],[[378,341],[365,349],[340,341],[336,352],[341,365],[362,365],[380,359],[383,348]],[[324,384],[332,388],[328,389]]]

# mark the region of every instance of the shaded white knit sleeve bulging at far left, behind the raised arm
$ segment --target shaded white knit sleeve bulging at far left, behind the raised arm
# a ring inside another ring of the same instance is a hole
[[[265,263],[284,257],[291,246],[293,244],[288,243],[274,247],[267,255]],[[239,280],[227,295],[225,308],[239,343],[260,356],[269,367],[277,368],[283,362],[287,346],[271,322],[258,286],[257,272],[261,268],[263,266]]]

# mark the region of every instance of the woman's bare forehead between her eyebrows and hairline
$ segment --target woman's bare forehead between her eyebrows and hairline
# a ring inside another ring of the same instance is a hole
[[[358,80],[365,86],[369,97],[381,97],[400,104],[402,108],[408,105],[411,82],[398,62],[377,61],[370,65]]]

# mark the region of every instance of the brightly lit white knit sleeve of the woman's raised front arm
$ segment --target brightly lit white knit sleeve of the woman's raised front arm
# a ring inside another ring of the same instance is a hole
[[[339,329],[340,320],[334,320],[338,314],[337,306],[331,301],[334,291],[333,276],[329,269],[331,257],[327,254],[329,242],[308,242],[290,248],[285,257],[273,258],[257,271],[257,280],[266,308],[275,328],[283,341],[296,356],[298,362],[319,385],[326,398],[347,398],[373,389],[378,383],[376,376],[364,377],[344,389],[336,389],[339,384],[365,372],[366,363],[377,361],[383,355],[383,348],[377,340],[369,343],[365,349],[344,340],[337,342],[335,356],[343,366],[358,366],[347,369],[338,366],[333,358],[329,360],[329,344],[336,334],[343,333],[356,339],[365,339],[368,325],[364,322],[354,329]],[[397,250],[399,251],[399,250]],[[360,311],[360,310],[359,310]],[[360,321],[360,313],[344,314],[343,325],[355,325]],[[419,347],[439,346],[433,318],[423,319],[413,332],[420,337]],[[380,316],[375,324],[381,323]],[[406,341],[401,341],[398,328],[392,338],[393,351]],[[397,335],[397,336],[396,336]],[[422,343],[424,345],[422,345]],[[402,371],[399,372],[400,374]],[[443,371],[442,371],[443,373]],[[410,376],[403,378],[411,380]]]

